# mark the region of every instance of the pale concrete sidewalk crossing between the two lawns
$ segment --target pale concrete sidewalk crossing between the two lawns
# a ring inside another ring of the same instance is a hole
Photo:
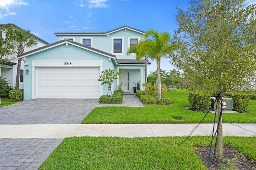
[[[166,137],[187,136],[197,124],[56,124],[0,125],[0,139],[63,139],[74,136]],[[216,126],[215,126],[216,128]],[[192,135],[211,135],[213,124],[200,124]],[[224,136],[256,136],[256,123],[223,123]]]

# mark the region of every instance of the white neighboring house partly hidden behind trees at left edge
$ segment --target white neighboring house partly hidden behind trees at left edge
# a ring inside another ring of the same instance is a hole
[[[14,24],[12,24],[14,25]],[[0,24],[0,27],[2,27],[4,25]],[[21,29],[20,27],[14,25],[15,27]],[[5,33],[1,33],[2,38],[5,38]],[[38,38],[35,36],[36,41],[38,42],[38,44],[36,45],[36,47],[33,47],[32,49],[36,49],[38,47],[42,47],[44,45],[48,45],[49,43],[47,43],[46,41]],[[31,48],[25,48],[24,52],[26,51],[30,51],[32,50]],[[15,51],[17,51],[17,49],[14,49]],[[17,63],[18,63],[18,59],[17,59],[17,54],[14,53],[13,55],[8,56],[9,59],[15,58],[15,60],[13,61],[6,61],[4,63],[0,63],[0,65],[5,65],[7,66],[8,70],[4,70],[0,68],[0,75],[3,76],[4,78],[6,78],[7,81],[9,81],[8,83],[10,83],[10,86],[14,86],[15,87],[15,83],[16,83],[16,74],[17,74]],[[25,72],[24,72],[24,61],[21,62],[20,65],[20,83],[19,83],[19,88],[23,89],[24,87],[24,82],[23,82],[23,76],[24,76]]]

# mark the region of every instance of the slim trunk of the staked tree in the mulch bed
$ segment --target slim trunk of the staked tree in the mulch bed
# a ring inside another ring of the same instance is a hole
[[[218,133],[217,133],[217,152],[216,152],[216,158],[217,159],[222,159],[222,140],[223,140],[223,130],[222,130],[222,116],[220,117],[220,111],[221,111],[221,100],[220,98],[217,99],[217,111],[216,111],[216,115],[217,115],[217,122],[219,122],[220,119],[220,126],[218,129]]]

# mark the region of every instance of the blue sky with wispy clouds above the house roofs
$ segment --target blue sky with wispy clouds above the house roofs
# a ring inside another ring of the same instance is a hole
[[[14,23],[37,37],[54,43],[54,32],[105,32],[128,25],[142,31],[155,29],[173,34],[176,7],[190,0],[0,0],[0,24]],[[246,0],[256,4],[256,0]],[[151,61],[149,71],[155,71]],[[169,59],[161,68],[174,69]]]

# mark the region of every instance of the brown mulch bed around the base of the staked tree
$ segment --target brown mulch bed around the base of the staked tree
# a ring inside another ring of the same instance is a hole
[[[204,153],[206,147],[195,147],[196,154],[200,157],[201,162],[208,168],[208,160],[210,155],[210,148]],[[204,153],[204,154],[203,154]],[[223,159],[215,159],[213,163],[214,147],[212,147],[212,154],[210,160],[210,170],[219,170],[224,168],[238,169],[238,170],[255,170],[256,160],[252,160],[243,154],[240,154],[230,145],[223,146]]]

